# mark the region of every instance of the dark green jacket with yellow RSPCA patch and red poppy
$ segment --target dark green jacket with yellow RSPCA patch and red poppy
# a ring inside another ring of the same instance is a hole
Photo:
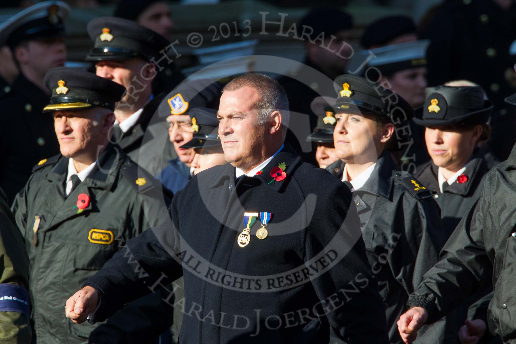
[[[160,223],[160,209],[166,212],[160,188],[118,146],[108,144],[98,164],[65,198],[68,162],[56,156],[36,166],[12,206],[30,261],[33,340],[38,343],[88,341],[95,326],[76,325],[66,318],[66,300],[127,240]],[[77,214],[76,204],[84,194],[89,202]],[[131,263],[130,257],[124,259]],[[170,325],[168,309],[159,312],[163,302],[137,302],[100,324],[93,333],[105,338],[95,342],[152,342],[152,333],[157,337]],[[143,316],[146,307],[156,310]],[[147,341],[138,341],[141,336]]]

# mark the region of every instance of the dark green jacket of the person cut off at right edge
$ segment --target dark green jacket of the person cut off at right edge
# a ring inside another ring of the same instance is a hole
[[[436,321],[492,280],[489,329],[516,343],[516,149],[484,178],[477,202],[411,294],[409,305],[426,308],[428,322]]]

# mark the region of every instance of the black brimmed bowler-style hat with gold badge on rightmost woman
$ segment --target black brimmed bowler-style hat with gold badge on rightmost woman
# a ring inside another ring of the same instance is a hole
[[[493,104],[480,86],[436,86],[425,89],[425,104],[416,109],[414,122],[424,126],[482,124]]]

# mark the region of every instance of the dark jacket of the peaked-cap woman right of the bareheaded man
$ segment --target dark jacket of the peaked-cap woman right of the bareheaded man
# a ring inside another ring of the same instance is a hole
[[[342,179],[344,166],[338,160],[327,170]],[[391,343],[401,343],[396,322],[405,313],[409,294],[437,262],[446,239],[431,193],[409,173],[395,168],[391,155],[383,152],[367,182],[353,192],[353,200],[369,264],[378,278]],[[416,342],[442,343],[444,325],[442,321],[428,326]],[[457,333],[450,335],[457,337]]]

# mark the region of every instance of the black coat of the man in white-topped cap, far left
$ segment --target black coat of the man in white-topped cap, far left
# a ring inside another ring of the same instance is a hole
[[[0,187],[8,203],[23,189],[38,161],[59,153],[54,119],[43,113],[49,95],[20,73],[11,90],[0,99]]]

